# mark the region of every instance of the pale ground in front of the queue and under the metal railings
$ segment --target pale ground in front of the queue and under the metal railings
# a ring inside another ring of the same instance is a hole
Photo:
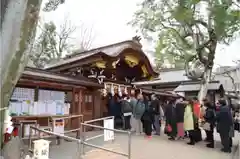
[[[238,134],[239,135],[239,134]],[[239,136],[238,136],[239,137]],[[216,140],[219,137],[216,135]],[[220,152],[220,143],[217,141],[217,148],[208,149],[205,143],[201,142],[195,146],[189,146],[186,141],[168,141],[165,135],[154,136],[152,139],[146,139],[143,136],[132,136],[132,159],[232,159],[231,154]],[[90,143],[104,146],[109,149],[127,153],[127,136],[116,134],[114,143],[104,143],[103,138],[98,138]],[[114,155],[96,149],[86,149],[88,151],[84,159],[124,159],[126,157]],[[77,144],[72,142],[63,142],[61,146],[51,146],[51,159],[78,159]]]

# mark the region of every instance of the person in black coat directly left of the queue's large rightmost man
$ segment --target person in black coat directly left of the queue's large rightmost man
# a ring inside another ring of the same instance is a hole
[[[208,148],[214,148],[214,127],[216,122],[216,110],[215,107],[208,101],[204,103],[206,111],[204,115],[205,124],[208,128],[205,128],[207,135],[206,141],[209,142],[206,146]]]

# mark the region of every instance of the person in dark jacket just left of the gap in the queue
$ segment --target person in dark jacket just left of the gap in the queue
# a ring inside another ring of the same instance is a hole
[[[160,130],[161,130],[161,127],[160,127],[160,115],[161,115],[160,114],[160,105],[159,105],[159,101],[155,94],[153,94],[151,96],[151,98],[152,98],[152,101],[151,101],[150,107],[152,108],[153,113],[154,113],[154,127],[155,127],[155,131],[156,131],[155,135],[160,135]]]

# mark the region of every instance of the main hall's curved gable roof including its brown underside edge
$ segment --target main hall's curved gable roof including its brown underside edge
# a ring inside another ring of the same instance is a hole
[[[76,66],[80,67],[83,63],[101,61],[103,58],[114,61],[120,57],[130,60],[130,62],[132,62],[131,60],[135,59],[136,61],[137,59],[143,65],[143,71],[147,71],[148,74],[153,77],[158,76],[158,73],[153,70],[148,57],[143,52],[141,44],[134,40],[123,41],[89,51],[75,53],[75,55],[68,56],[53,65],[49,65],[46,69],[59,72]]]

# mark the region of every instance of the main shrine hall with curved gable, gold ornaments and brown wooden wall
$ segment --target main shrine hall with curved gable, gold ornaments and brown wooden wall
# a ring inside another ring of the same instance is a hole
[[[107,93],[120,96],[128,94],[133,82],[158,77],[142,50],[139,37],[85,52],[76,52],[46,69],[76,78],[84,76],[90,81],[104,85],[103,90],[94,94],[82,92],[81,111],[85,120],[108,114]]]

